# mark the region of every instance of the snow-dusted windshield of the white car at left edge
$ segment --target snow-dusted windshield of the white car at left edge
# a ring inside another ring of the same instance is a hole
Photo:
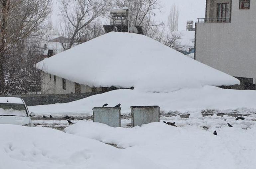
[[[27,116],[24,104],[0,103],[0,116]]]

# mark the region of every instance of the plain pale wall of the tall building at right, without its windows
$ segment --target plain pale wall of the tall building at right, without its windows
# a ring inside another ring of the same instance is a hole
[[[195,59],[255,83],[255,18],[256,1],[251,0],[248,10],[239,9],[239,0],[233,0],[231,23],[196,23]]]

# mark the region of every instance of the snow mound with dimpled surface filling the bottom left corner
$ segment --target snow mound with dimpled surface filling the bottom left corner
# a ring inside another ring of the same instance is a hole
[[[156,169],[137,153],[49,128],[0,125],[1,169]]]

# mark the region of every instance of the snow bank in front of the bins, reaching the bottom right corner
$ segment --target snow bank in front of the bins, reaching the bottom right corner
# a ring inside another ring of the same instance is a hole
[[[196,126],[173,127],[162,122],[125,129],[78,122],[65,128],[65,132],[117,144],[168,169],[254,169],[255,129],[254,124],[247,130],[234,126],[206,131]],[[213,135],[214,130],[217,136]]]

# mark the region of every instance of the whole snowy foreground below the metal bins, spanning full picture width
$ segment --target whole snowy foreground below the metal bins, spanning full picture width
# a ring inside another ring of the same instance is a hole
[[[0,168],[254,169],[256,115],[244,117],[236,121],[195,112],[189,118],[163,116],[160,122],[134,128],[128,127],[129,118],[122,119],[121,128],[90,119],[72,120],[74,125],[64,120],[34,120],[37,127],[1,125]],[[65,133],[46,128],[56,125],[67,127]]]

